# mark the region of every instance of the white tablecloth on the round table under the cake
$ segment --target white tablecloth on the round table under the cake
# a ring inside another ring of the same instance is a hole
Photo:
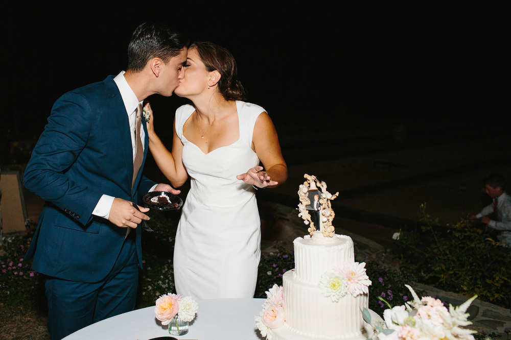
[[[259,315],[265,299],[210,299],[197,300],[199,309],[190,323],[188,334],[177,339],[263,339],[255,327],[254,317]],[[64,340],[147,340],[169,336],[168,326],[154,317],[154,306],[133,310],[105,319],[80,329]]]

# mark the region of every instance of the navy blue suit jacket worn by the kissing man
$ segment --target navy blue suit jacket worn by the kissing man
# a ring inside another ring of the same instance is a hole
[[[32,269],[69,281],[105,280],[126,247],[126,228],[92,211],[103,194],[140,203],[156,184],[141,176],[143,166],[132,190],[128,113],[113,76],[61,96],[24,174],[25,187],[47,201],[25,257],[34,257]],[[142,267],[141,226],[130,234]]]

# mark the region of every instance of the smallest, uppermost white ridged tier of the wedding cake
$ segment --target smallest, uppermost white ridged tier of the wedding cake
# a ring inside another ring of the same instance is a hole
[[[337,235],[329,242],[316,242],[311,236],[297,237],[294,244],[295,275],[298,281],[317,285],[321,275],[341,262],[354,262],[350,236]]]

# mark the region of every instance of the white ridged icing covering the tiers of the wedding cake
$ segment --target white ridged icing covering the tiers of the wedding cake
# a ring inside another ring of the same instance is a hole
[[[321,275],[336,264],[354,262],[352,239],[335,234],[330,241],[317,242],[306,235],[293,243],[296,268],[283,277],[286,322],[272,330],[272,338],[365,339],[361,310],[368,308],[368,294],[346,294],[335,302],[318,286]]]

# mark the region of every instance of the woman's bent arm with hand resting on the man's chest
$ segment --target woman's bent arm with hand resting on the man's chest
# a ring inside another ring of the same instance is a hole
[[[160,171],[167,177],[172,186],[180,187],[188,178],[188,173],[184,167],[181,159],[181,153],[183,150],[183,143],[179,139],[176,133],[176,119],[174,118],[174,136],[172,141],[172,153],[167,150],[165,145],[161,142],[158,135],[154,132],[154,115],[150,109],[149,104],[146,104],[146,108],[149,108],[150,119],[147,122],[147,134],[149,137],[149,150],[153,155],[156,165],[158,165]]]

